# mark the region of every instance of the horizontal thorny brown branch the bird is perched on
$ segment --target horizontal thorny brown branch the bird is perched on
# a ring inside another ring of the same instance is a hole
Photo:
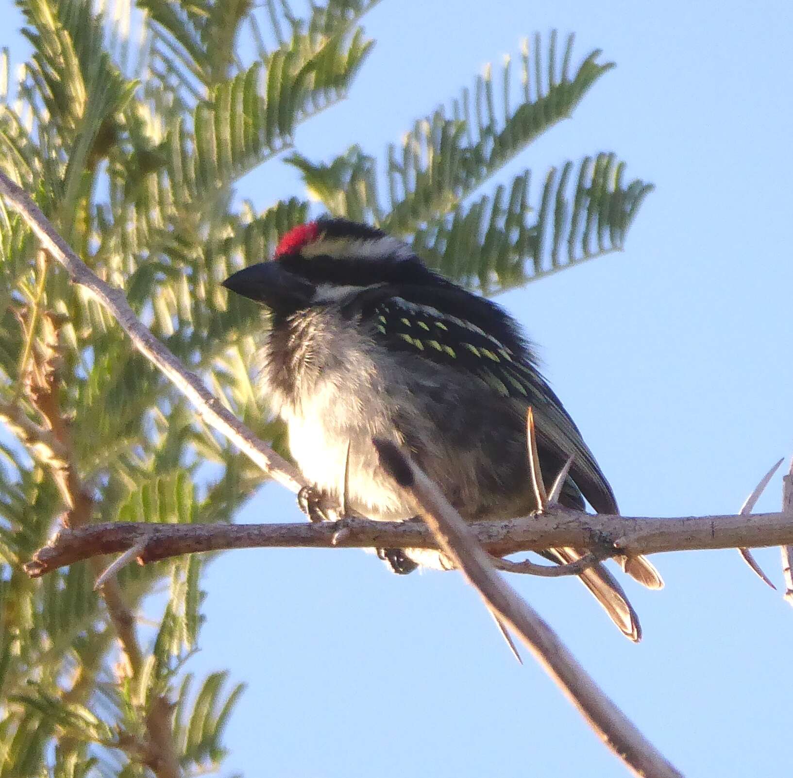
[[[793,512],[651,519],[589,514],[554,506],[539,515],[470,525],[491,554],[558,546],[617,554],[660,554],[751,546],[793,545]],[[439,544],[419,522],[343,519],[283,524],[158,524],[113,522],[61,530],[25,565],[31,577],[141,544],[147,563],[201,551],[239,548],[429,548]],[[579,571],[580,572],[580,571]]]

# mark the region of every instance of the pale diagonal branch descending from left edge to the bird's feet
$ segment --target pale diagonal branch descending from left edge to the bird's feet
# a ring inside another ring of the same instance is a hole
[[[193,403],[198,415],[206,423],[239,446],[239,450],[247,454],[267,475],[287,489],[298,492],[306,485],[305,479],[294,466],[278,456],[270,446],[259,440],[232,413],[228,412],[220,400],[213,397],[213,394],[206,389],[197,375],[186,370],[173,353],[151,335],[129,307],[121,289],[109,286],[98,278],[59,236],[25,190],[2,172],[0,172],[0,194],[29,224],[52,259],[66,268],[75,284],[84,287],[96,297],[129,335],[137,350]]]

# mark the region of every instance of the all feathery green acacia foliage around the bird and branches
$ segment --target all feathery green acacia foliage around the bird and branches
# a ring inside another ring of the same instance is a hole
[[[33,51],[13,83],[0,55],[2,170],[277,448],[282,427],[252,384],[257,312],[219,282],[271,255],[314,212],[296,197],[240,202],[240,177],[280,157],[331,213],[404,236],[485,293],[621,249],[649,191],[611,154],[565,162],[533,190],[522,171],[483,191],[610,69],[600,52],[574,65],[572,36],[561,47],[555,33],[535,36],[518,79],[510,63],[496,78],[488,68],[382,155],[351,145],[320,162],[297,150],[299,127],[353,87],[372,46],[360,22],[376,0],[312,2],[303,13],[285,0],[18,5]],[[201,559],[129,565],[117,601],[94,592],[96,565],[30,581],[21,563],[63,514],[232,521],[262,475],[2,207],[0,301],[0,778],[151,775],[146,755],[163,726],[186,775],[220,769],[242,686],[211,673],[191,692]],[[75,483],[90,498],[82,508]],[[163,588],[166,602],[150,596]],[[129,619],[126,630],[125,609],[155,611],[156,626]],[[170,724],[154,726],[168,703]]]

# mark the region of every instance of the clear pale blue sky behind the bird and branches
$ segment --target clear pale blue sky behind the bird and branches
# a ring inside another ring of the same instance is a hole
[[[10,8],[8,0],[0,0]],[[16,14],[16,12],[14,12]],[[17,25],[15,25],[16,27]],[[780,2],[384,0],[347,102],[301,151],[377,152],[535,30],[618,67],[500,176],[616,151],[657,190],[626,251],[500,297],[630,515],[735,512],[793,454],[793,10]],[[280,163],[240,194],[303,194]],[[780,477],[757,510],[777,510]],[[301,520],[262,489],[243,521]],[[778,550],[757,553],[781,583]],[[626,582],[634,646],[577,581],[513,582],[687,776],[787,776],[793,611],[735,551],[665,554],[662,592]],[[282,778],[626,774],[554,684],[512,659],[456,573],[395,577],[354,550],[225,554],[194,672],[247,692],[229,769]]]

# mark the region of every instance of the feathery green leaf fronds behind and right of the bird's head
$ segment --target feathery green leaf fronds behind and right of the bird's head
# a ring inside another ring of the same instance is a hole
[[[640,181],[625,184],[625,163],[616,163],[614,155],[598,155],[594,165],[584,158],[574,188],[569,186],[572,162],[559,176],[552,169],[534,208],[530,171],[515,176],[511,186],[497,186],[491,196],[465,202],[527,144],[569,117],[592,84],[613,67],[600,63],[600,52],[594,51],[571,74],[572,59],[572,35],[559,56],[555,32],[547,54],[536,35],[533,47],[523,45],[514,110],[508,59],[498,89],[488,67],[473,90],[464,89],[450,106],[439,106],[417,121],[401,148],[391,145],[386,151],[387,209],[380,205],[385,187],[377,160],[357,146],[329,164],[297,153],[289,162],[331,213],[411,239],[431,266],[485,293],[559,269],[563,243],[568,246],[566,264],[619,250],[651,187]]]

